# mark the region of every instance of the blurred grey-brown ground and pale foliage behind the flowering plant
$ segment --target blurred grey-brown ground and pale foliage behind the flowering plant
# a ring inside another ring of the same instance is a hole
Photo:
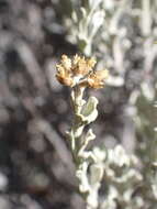
[[[65,140],[70,89],[57,82],[55,65],[61,54],[82,54],[86,37],[71,14],[86,3],[0,0],[0,209],[85,208]],[[146,174],[157,157],[157,2],[102,0],[99,10],[87,54],[110,79],[87,92],[100,101],[92,145],[121,143]]]

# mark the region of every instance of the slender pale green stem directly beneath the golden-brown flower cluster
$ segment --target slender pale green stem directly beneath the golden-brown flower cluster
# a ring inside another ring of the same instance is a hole
[[[74,123],[71,125],[71,130],[70,130],[70,148],[71,148],[71,154],[72,154],[72,160],[76,166],[76,177],[78,178],[78,193],[79,195],[82,197],[82,199],[86,201],[87,204],[87,209],[96,209],[96,207],[92,207],[89,202],[88,202],[88,197],[91,193],[90,187],[87,186],[87,190],[81,190],[80,186],[85,184],[85,179],[87,180],[87,184],[89,184],[89,179],[88,179],[88,174],[87,174],[87,169],[89,167],[89,162],[87,158],[85,158],[83,156],[81,156],[80,150],[82,150],[82,147],[87,146],[88,144],[88,139],[83,139],[86,140],[85,145],[82,144],[82,133],[83,133],[83,129],[86,127],[85,123],[80,122],[79,116],[81,114],[81,110],[83,105],[86,103],[86,101],[83,100],[83,92],[85,92],[85,87],[80,87],[79,85],[76,86],[72,91],[71,91],[71,102],[72,102],[72,108],[74,108]],[[83,150],[85,150],[83,147]],[[86,168],[85,168],[86,167]],[[86,170],[85,170],[86,169]],[[86,176],[81,176],[82,173],[86,174]]]

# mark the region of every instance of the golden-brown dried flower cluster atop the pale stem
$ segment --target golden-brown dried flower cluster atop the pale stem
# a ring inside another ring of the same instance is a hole
[[[102,88],[108,78],[108,70],[93,70],[97,61],[75,55],[70,59],[67,55],[61,56],[60,64],[56,65],[58,81],[65,86],[75,87],[80,85],[90,88]]]

